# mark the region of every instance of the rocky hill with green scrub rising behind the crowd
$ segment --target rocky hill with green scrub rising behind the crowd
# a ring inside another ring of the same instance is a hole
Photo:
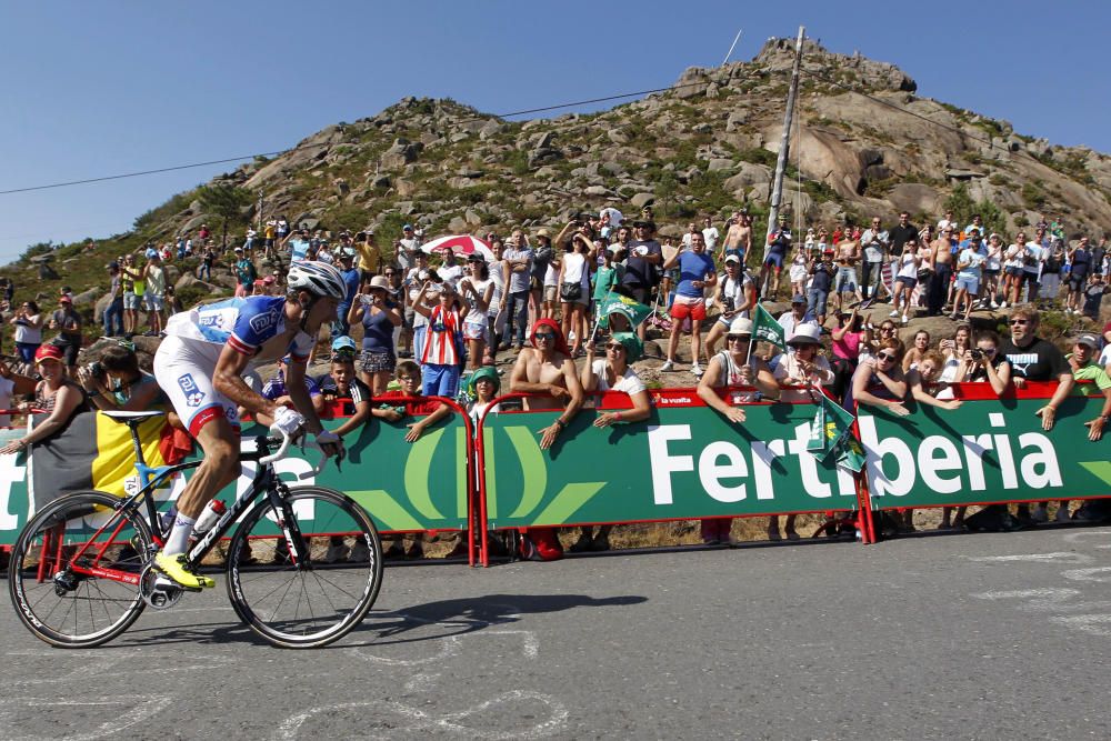
[[[771,39],[753,60],[688,69],[665,92],[526,122],[453,100],[406,98],[213,183],[261,191],[267,216],[294,223],[378,227],[387,244],[402,221],[430,234],[477,232],[557,223],[605,204],[630,212],[653,203],[661,231],[678,233],[697,213],[741,203],[767,210],[792,58],[792,40]],[[891,64],[808,42],[795,121],[784,200],[800,222],[893,218],[905,209],[921,223],[955,191],[967,203],[993,207],[989,226],[1008,232],[1042,213],[1063,214],[1070,232],[1099,236],[1111,224],[1107,156],[922,98]],[[233,224],[237,233],[256,218],[253,208]],[[68,281],[81,291],[102,282],[107,259],[204,221],[217,219],[197,191],[181,193],[139,217],[130,233],[92,250],[63,248],[58,281],[47,276],[41,286]],[[30,267],[0,274],[26,286]]]

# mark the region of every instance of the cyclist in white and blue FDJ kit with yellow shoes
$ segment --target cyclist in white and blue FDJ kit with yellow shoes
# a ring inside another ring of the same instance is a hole
[[[174,314],[154,356],[154,378],[204,454],[178,500],[170,535],[154,557],[156,565],[182,587],[216,584],[187,569],[186,551],[204,505],[239,477],[238,407],[273,419],[271,429],[287,435],[307,428],[326,454],[343,452],[339,435],[321,425],[303,378],[320,327],[336,318],[347,286],[336,268],[312,261],[294,263],[287,286],[286,297],[228,299]],[[243,380],[252,366],[287,353],[291,361],[286,382],[296,409],[262,398]]]

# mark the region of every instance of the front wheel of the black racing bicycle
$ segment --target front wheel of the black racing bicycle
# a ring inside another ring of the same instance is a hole
[[[274,512],[260,500],[228,551],[228,597],[251,630],[274,645],[327,645],[358,625],[382,585],[382,544],[370,518],[348,497],[294,487]],[[308,558],[291,555],[280,522],[300,532]]]

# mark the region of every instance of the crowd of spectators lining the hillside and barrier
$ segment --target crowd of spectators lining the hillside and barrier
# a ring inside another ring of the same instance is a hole
[[[631,399],[631,409],[599,414],[597,425],[645,419],[650,403],[640,373],[651,371],[653,378],[689,373],[690,380],[679,375],[668,384],[697,385],[699,398],[735,424],[744,423],[744,409],[722,398],[725,387],[745,388],[742,400],[807,402],[823,391],[850,411],[865,404],[903,415],[909,402],[959,408],[952,383],[984,383],[1001,395],[1012,385],[1052,380],[1057,390],[1038,412],[1048,430],[1079,379],[1107,399],[1099,417],[1084,420],[1090,438],[1100,439],[1111,415],[1111,323],[1101,332],[1091,322],[1111,291],[1105,239],[1095,247],[1082,234],[1067,241],[1057,219],[1032,227],[1030,239],[1019,231],[1012,240],[979,216],[960,226],[951,212],[924,227],[903,212],[890,224],[872,218],[863,228],[815,226],[798,238],[790,220],[780,214],[763,237],[742,209],[720,229],[704,217],[681,238],[661,241],[651,209],[629,220],[607,208],[571,219],[554,238],[549,228],[490,232],[483,236],[489,249],[461,254],[430,253],[413,224],[379,239],[371,229],[324,232],[274,217],[248,229],[230,252],[202,226],[196,236],[149,244],[107,266],[104,334],[138,334],[143,317],[146,333],[158,334],[166,317],[180,310],[168,262],[197,258],[196,277],[207,281],[220,261],[234,278],[236,296],[246,297],[280,292],[288,264],[320,260],[340,269],[348,296],[321,353],[330,356],[330,366],[306,383],[320,411],[346,404],[340,411],[350,419],[341,434],[356,433],[372,418],[411,418],[406,439],[413,441],[451,413],[433,397],[482,412],[500,390],[530,394],[527,409],[560,410],[542,432],[547,449],[597,392]],[[599,316],[613,296],[648,307],[650,319],[631,326],[620,314]],[[778,317],[788,346],[782,351],[752,339],[757,308],[771,310],[780,299],[790,302]],[[1038,336],[1040,308],[1074,318],[1071,354]],[[975,312],[989,310],[1008,312],[1008,338],[987,327],[973,330]],[[921,329],[909,348],[899,339],[911,321],[945,316],[954,323],[944,337]],[[68,413],[73,394],[67,388],[79,390],[80,404],[100,409],[151,402],[149,379],[123,359],[106,359],[100,374],[78,367],[86,320],[68,292],[50,314],[26,301],[7,317],[19,357],[47,370],[36,403],[62,392]],[[47,344],[43,332],[54,332]],[[660,341],[659,356],[645,356],[650,339]],[[510,350],[512,369],[500,370],[507,360],[499,353]],[[50,370],[54,361],[61,373]],[[262,392],[280,400],[284,391],[279,368]],[[1019,515],[1043,521],[1048,502],[1033,511],[1020,508]],[[1068,502],[1055,517],[1069,517]],[[958,511],[951,519],[947,510],[942,527],[960,525],[963,518]],[[788,539],[799,537],[794,524],[794,517],[787,518]],[[901,527],[913,527],[909,514]],[[707,543],[730,542],[731,533],[729,519],[702,523]],[[584,529],[573,550],[605,550],[609,534],[608,528]],[[781,538],[775,518],[768,537]],[[394,545],[391,557],[423,553],[419,539]],[[522,552],[550,559],[562,547],[554,530],[533,529]]]

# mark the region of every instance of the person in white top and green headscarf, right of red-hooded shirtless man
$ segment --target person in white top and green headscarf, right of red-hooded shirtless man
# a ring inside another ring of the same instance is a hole
[[[605,342],[605,358],[594,360],[595,346],[587,343],[587,363],[582,368],[582,389],[585,393],[595,391],[620,391],[629,394],[632,409],[602,412],[594,419],[594,427],[604,429],[611,424],[642,422],[652,413],[648,388],[629,363],[640,360],[643,343],[632,332],[614,332]],[[579,540],[571,545],[571,552],[610,550],[612,525],[601,525],[597,533],[590,525],[582,528]]]

